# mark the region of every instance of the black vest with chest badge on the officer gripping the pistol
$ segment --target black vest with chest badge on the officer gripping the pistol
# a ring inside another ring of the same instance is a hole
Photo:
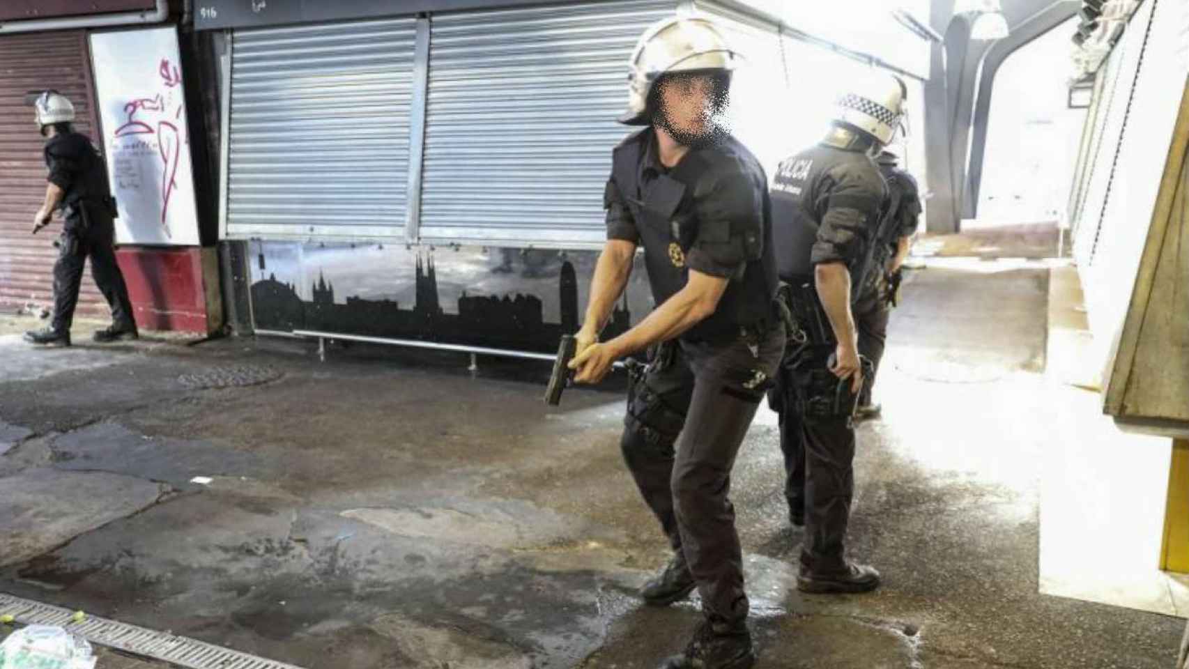
[[[763,169],[751,153],[734,137],[723,143],[690,151],[681,162],[660,173],[648,183],[642,183],[641,162],[648,143],[653,141],[652,128],[646,128],[624,140],[615,149],[611,172],[618,185],[636,228],[640,244],[644,248],[644,266],[653,299],[658,305],[685,288],[688,267],[685,255],[698,238],[698,221],[693,213],[693,193],[698,178],[730,156],[744,157],[751,165],[759,184],[767,183]],[[774,321],[773,297],[776,291],[776,266],[773,255],[772,208],[767,189],[756,187],[763,202],[763,240],[755,253],[743,265],[740,274],[731,278],[718,308],[706,320],[690,330],[682,339],[690,341],[729,341],[741,327],[770,323]]]

